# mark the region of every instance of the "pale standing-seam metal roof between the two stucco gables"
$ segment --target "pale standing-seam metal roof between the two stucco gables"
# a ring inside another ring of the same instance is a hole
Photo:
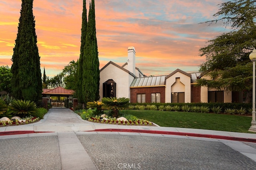
[[[166,76],[134,78],[130,87],[164,86]]]

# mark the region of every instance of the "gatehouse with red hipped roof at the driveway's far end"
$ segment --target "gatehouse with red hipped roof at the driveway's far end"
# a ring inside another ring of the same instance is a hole
[[[65,107],[64,100],[52,100],[52,97],[64,97],[69,103],[72,103],[72,95],[74,90],[67,90],[63,87],[57,87],[54,89],[43,89],[42,96],[47,98],[48,103],[52,104],[52,107]]]

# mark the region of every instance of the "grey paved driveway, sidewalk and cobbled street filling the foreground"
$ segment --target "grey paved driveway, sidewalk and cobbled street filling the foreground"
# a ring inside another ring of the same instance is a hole
[[[26,134],[8,135],[18,131]],[[0,127],[0,134],[0,150],[6,153],[0,155],[0,169],[256,167],[256,134],[105,125],[82,120],[70,109],[50,109],[41,121]]]

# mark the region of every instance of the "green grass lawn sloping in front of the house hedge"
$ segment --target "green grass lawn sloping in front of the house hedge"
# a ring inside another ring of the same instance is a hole
[[[152,121],[162,127],[184,127],[251,133],[252,117],[214,113],[194,113],[158,110],[122,110],[120,114],[132,114],[139,119]]]

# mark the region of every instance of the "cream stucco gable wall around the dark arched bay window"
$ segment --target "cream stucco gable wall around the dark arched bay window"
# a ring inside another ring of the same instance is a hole
[[[116,97],[117,98],[130,98],[130,84],[132,83],[132,78],[129,76],[128,72],[109,64],[106,68],[100,72],[100,100],[103,96],[103,83],[109,79],[116,82]]]

